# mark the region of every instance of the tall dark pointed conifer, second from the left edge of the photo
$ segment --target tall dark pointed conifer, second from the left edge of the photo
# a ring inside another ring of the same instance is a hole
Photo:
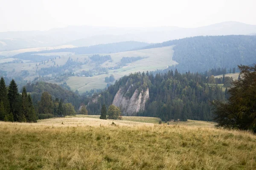
[[[14,79],[9,84],[8,99],[10,104],[10,112],[13,115],[14,121],[22,121],[22,115],[20,114],[20,94],[18,93],[18,87]]]

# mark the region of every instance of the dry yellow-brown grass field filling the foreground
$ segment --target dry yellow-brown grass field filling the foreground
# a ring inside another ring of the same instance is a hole
[[[157,125],[95,117],[0,122],[0,169],[256,169],[256,136],[249,132],[202,121]]]

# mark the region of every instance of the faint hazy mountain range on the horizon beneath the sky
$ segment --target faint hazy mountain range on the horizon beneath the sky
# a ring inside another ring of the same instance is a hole
[[[0,51],[58,45],[90,46],[122,41],[164,42],[200,35],[255,34],[256,26],[239,22],[223,22],[198,28],[153,27],[117,28],[68,26],[48,31],[0,32]]]

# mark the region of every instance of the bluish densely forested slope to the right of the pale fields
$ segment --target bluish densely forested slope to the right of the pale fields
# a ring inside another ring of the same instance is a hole
[[[256,37],[246,35],[199,36],[149,45],[142,49],[175,45],[172,59],[181,71],[237,68],[256,62]]]

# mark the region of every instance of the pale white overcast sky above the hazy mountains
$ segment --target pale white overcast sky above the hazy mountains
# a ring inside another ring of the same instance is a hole
[[[0,31],[66,26],[256,25],[256,0],[0,0]]]

